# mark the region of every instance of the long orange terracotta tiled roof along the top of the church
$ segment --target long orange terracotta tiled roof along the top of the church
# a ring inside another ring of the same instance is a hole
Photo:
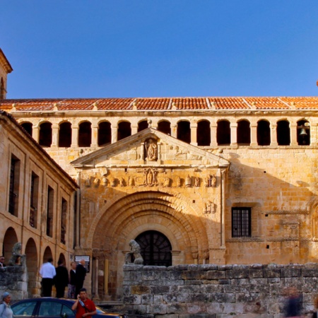
[[[72,98],[0,100],[0,110],[318,110],[318,97]]]

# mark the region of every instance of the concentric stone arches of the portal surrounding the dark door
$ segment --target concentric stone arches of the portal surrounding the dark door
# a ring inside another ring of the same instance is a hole
[[[98,287],[99,296],[116,299],[122,295],[122,266],[129,241],[147,230],[159,232],[171,245],[167,247],[171,259],[166,266],[204,262],[208,235],[200,211],[195,210],[191,198],[178,198],[179,194],[166,191],[134,192],[110,201],[95,219],[90,230],[93,236],[86,242],[93,248],[93,258],[98,259],[98,270],[105,275],[104,285]]]

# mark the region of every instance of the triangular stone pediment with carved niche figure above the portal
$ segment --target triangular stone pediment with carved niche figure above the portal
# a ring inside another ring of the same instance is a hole
[[[228,160],[153,128],[93,151],[71,162],[97,167],[228,167]]]

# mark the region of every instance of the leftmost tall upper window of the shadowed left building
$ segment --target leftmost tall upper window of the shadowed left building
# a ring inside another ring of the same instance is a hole
[[[18,216],[18,194],[20,187],[20,160],[11,156],[8,212]]]

